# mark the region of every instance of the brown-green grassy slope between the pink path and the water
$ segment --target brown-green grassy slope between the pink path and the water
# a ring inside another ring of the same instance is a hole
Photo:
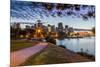
[[[80,56],[64,48],[56,45],[49,44],[47,48],[31,56],[22,65],[37,65],[37,64],[57,64],[57,63],[70,63],[70,62],[84,62],[91,61],[86,57]]]

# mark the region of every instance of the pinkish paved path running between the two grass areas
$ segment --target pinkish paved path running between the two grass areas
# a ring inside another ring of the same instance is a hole
[[[47,46],[47,43],[38,43],[36,46],[28,47],[22,50],[18,50],[11,53],[11,67],[15,67],[17,65],[25,62],[30,56],[40,52]]]

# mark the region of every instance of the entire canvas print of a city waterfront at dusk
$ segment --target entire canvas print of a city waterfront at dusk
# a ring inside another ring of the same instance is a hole
[[[95,61],[95,5],[11,1],[10,13],[11,67]]]

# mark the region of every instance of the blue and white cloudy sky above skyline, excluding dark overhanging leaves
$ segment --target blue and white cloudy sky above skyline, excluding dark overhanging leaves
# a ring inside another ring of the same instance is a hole
[[[95,18],[88,18],[88,20],[83,20],[83,18],[80,16],[80,14],[86,14],[88,11],[91,11],[89,7],[85,8],[84,10],[80,8],[80,11],[73,10],[73,12],[77,14],[76,16],[66,15],[66,12],[68,11],[68,9],[57,10],[55,7],[52,9],[52,11],[47,11],[44,9],[44,7],[41,6],[41,3],[39,4],[36,2],[13,0],[13,2],[11,2],[11,22],[35,23],[37,20],[41,20],[42,22],[48,22],[45,23],[45,25],[51,24],[55,26],[57,26],[59,22],[62,22],[63,25],[69,25],[70,27],[83,29],[91,29],[95,26]],[[56,14],[57,12],[61,12],[61,16],[58,16]]]

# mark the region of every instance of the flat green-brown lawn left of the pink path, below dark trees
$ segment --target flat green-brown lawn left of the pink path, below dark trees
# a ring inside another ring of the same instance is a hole
[[[17,51],[23,48],[27,48],[27,47],[31,47],[34,46],[35,44],[37,44],[38,42],[32,42],[29,40],[11,40],[10,42],[10,48],[11,48],[11,52],[13,51]]]

